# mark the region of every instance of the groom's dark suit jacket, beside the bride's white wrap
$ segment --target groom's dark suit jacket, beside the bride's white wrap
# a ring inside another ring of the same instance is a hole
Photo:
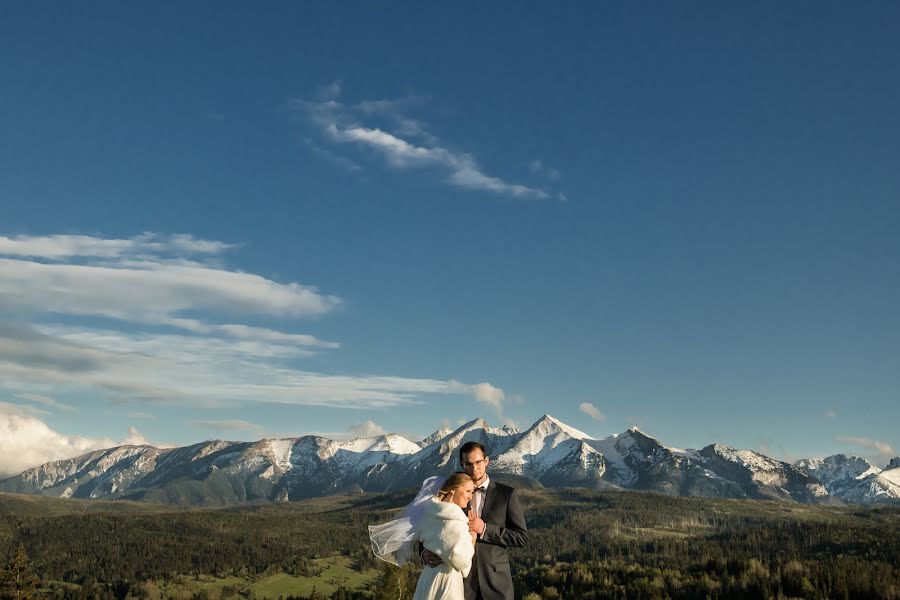
[[[507,548],[521,548],[528,543],[525,513],[516,491],[491,480],[485,491],[481,519],[484,535],[475,544],[472,570],[465,579],[466,600],[512,600],[512,572]]]

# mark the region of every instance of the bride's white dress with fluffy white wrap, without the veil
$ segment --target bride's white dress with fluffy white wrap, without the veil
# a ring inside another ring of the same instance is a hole
[[[437,498],[423,509],[416,538],[444,562],[422,570],[413,600],[463,600],[463,577],[469,574],[475,554],[469,520],[459,506]]]

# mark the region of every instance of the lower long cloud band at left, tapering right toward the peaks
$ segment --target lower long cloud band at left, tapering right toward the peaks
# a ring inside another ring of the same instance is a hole
[[[0,327],[0,378],[103,391],[126,403],[223,406],[269,402],[344,408],[420,404],[429,394],[470,395],[494,406],[490,384],[304,371],[291,345],[63,325]]]

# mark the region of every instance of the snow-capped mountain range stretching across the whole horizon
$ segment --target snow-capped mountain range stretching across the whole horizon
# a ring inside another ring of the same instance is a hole
[[[304,436],[166,449],[118,446],[28,469],[0,482],[0,491],[185,505],[389,492],[456,470],[457,450],[468,441],[487,447],[492,474],[519,485],[809,504],[900,503],[900,458],[884,469],[843,454],[790,464],[723,444],[672,448],[637,428],[594,439],[550,415],[524,431],[475,419],[418,442],[392,433],[345,441]]]

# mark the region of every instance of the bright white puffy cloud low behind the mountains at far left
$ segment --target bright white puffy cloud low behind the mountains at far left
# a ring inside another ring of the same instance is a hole
[[[146,440],[133,427],[119,441],[65,435],[34,416],[0,404],[0,478],[44,463],[128,443],[143,444]]]

